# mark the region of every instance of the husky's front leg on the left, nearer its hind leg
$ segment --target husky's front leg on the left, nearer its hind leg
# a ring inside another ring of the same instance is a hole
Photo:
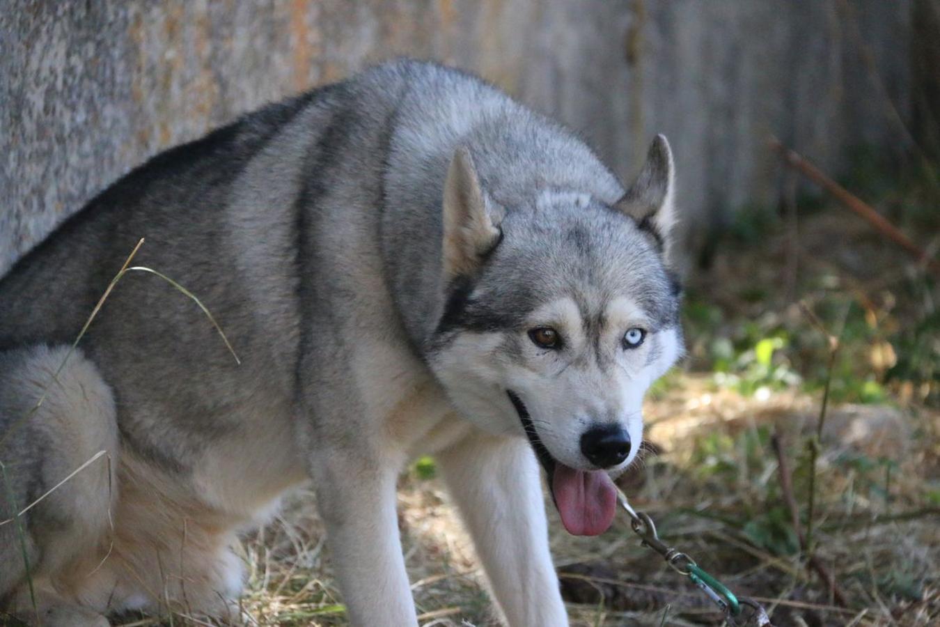
[[[313,463],[317,505],[352,625],[417,624],[399,540],[398,471],[398,464],[352,450]]]

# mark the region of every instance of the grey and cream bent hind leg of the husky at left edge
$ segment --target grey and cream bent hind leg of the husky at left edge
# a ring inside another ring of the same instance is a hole
[[[117,490],[111,391],[77,351],[54,379],[67,353],[0,353],[0,609],[47,627],[106,625],[55,583],[74,560],[106,552]]]

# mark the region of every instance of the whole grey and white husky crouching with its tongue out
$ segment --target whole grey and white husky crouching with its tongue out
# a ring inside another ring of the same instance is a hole
[[[414,625],[396,478],[431,454],[502,619],[568,624],[540,465],[568,531],[611,524],[609,473],[682,352],[672,201],[664,137],[626,189],[556,123],[408,60],[137,168],[0,281],[6,611],[224,616],[236,534],[311,478],[352,623]],[[134,264],[195,292],[241,365],[127,274],[43,397],[141,237]]]

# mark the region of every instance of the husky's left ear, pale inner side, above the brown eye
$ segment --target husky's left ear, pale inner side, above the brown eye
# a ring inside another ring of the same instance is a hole
[[[444,184],[444,274],[447,278],[473,274],[499,243],[502,208],[479,181],[470,151],[454,152]]]

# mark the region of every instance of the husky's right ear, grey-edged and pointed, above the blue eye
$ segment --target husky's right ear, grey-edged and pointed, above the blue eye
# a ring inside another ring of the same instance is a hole
[[[617,209],[633,217],[659,243],[668,259],[669,236],[676,223],[672,150],[665,135],[656,135],[646,163],[634,184],[617,201]]]

